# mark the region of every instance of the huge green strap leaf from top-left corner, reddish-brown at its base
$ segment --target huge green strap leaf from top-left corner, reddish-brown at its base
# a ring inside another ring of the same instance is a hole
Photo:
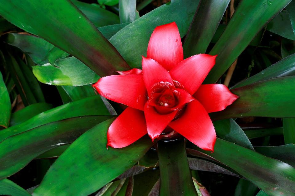
[[[129,66],[69,0],[0,0],[0,15],[80,59],[100,76]]]

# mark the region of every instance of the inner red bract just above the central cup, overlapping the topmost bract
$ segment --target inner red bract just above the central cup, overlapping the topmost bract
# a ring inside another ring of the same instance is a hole
[[[164,67],[151,58],[142,57],[142,70],[144,76],[144,84],[150,96],[152,88],[161,83],[170,83],[173,86],[171,76]]]

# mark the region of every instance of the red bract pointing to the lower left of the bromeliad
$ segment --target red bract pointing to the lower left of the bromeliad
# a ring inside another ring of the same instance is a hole
[[[126,108],[108,128],[107,146],[123,148],[147,134],[144,112]]]

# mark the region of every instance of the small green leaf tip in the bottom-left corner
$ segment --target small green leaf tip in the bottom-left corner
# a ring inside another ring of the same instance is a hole
[[[11,196],[30,196],[30,194],[9,179],[0,180],[0,194]]]

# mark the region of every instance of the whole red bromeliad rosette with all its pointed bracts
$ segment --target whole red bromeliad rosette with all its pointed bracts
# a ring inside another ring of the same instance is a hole
[[[183,60],[176,23],[156,27],[142,70],[121,71],[93,85],[101,96],[129,106],[109,127],[107,146],[122,148],[147,133],[154,140],[167,127],[213,151],[216,134],[208,113],[238,99],[225,85],[201,85],[215,58],[199,54]]]

